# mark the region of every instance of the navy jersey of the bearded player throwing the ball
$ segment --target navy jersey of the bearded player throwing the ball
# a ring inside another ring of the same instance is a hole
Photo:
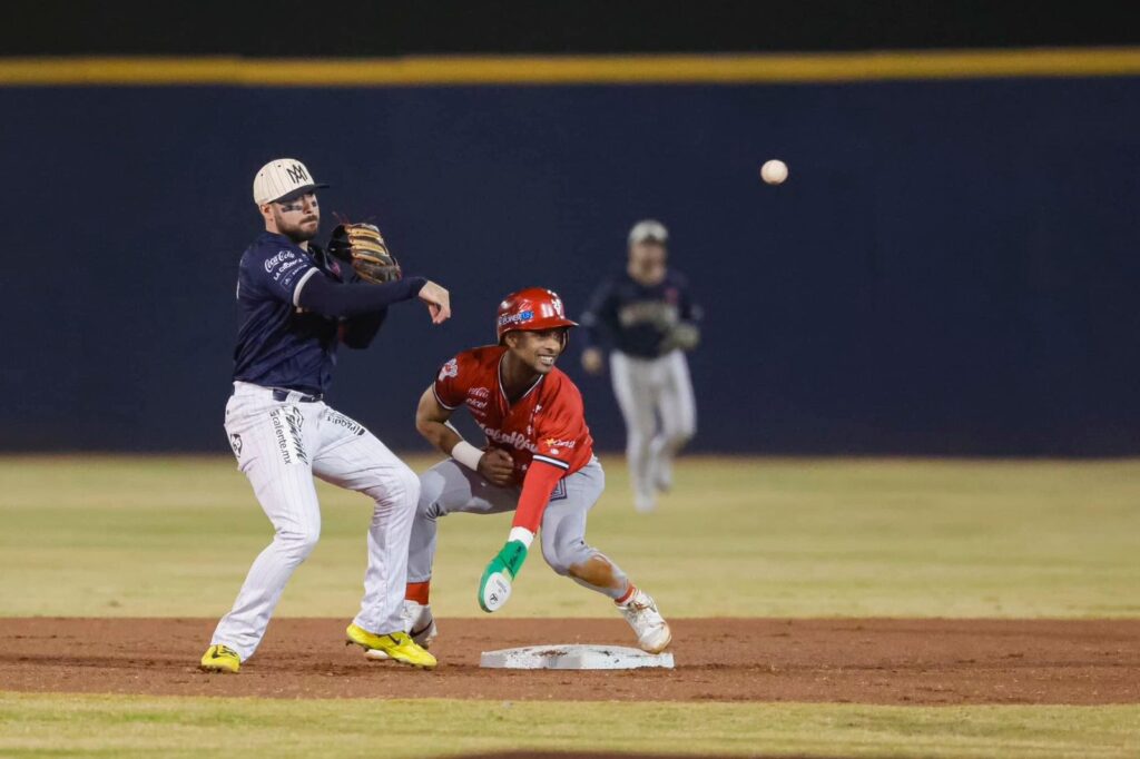
[[[312,243],[309,248],[311,253],[284,235],[266,231],[242,254],[235,379],[307,393],[328,389],[340,320],[303,311],[298,295],[310,277],[327,275],[342,281],[342,274],[336,260]]]

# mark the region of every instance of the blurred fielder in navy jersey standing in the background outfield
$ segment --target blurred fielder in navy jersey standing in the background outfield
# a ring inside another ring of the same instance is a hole
[[[668,242],[661,222],[645,219],[634,225],[625,271],[602,283],[581,317],[583,368],[600,374],[602,348],[610,349],[638,512],[657,508],[658,491],[673,484],[673,457],[697,432],[685,352],[700,342],[701,312],[687,280],[667,267]]]

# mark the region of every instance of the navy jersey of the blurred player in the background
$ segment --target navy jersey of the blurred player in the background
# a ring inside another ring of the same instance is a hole
[[[589,344],[608,345],[640,358],[661,356],[666,335],[681,323],[700,320],[689,281],[667,270],[660,284],[646,287],[622,270],[601,284],[581,315]]]

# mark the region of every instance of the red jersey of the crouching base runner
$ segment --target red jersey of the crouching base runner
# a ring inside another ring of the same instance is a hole
[[[578,387],[554,368],[508,403],[499,374],[505,353],[502,345],[486,345],[456,356],[439,369],[435,400],[453,410],[466,405],[488,446],[502,448],[514,459],[519,482],[532,459],[567,474],[586,466],[594,455],[594,439]]]

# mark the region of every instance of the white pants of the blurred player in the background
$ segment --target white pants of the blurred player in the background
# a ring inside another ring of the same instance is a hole
[[[626,421],[626,460],[634,505],[651,511],[673,484],[673,458],[697,432],[697,401],[685,354],[646,359],[610,353],[610,376]],[[660,425],[658,425],[660,417]]]

